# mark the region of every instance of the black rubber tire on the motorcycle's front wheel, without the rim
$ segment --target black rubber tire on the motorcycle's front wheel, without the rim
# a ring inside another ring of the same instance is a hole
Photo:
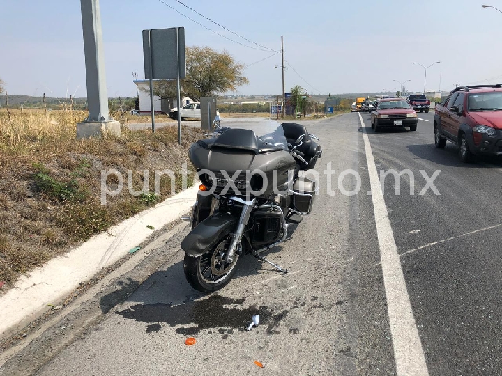
[[[238,263],[241,259],[241,256],[238,254],[234,255],[234,258],[236,258],[236,260],[231,269],[229,269],[227,274],[225,274],[218,280],[210,281],[202,274],[201,270],[201,268],[203,267],[211,267],[210,265],[206,265],[207,258],[211,260],[213,253],[218,251],[218,246],[220,246],[222,242],[228,242],[228,240],[228,235],[222,237],[222,239],[217,242],[217,244],[213,247],[213,249],[211,249],[211,251],[208,251],[199,257],[185,255],[185,260],[183,261],[183,269],[185,271],[185,278],[187,279],[188,283],[190,283],[192,288],[195,288],[195,290],[200,292],[210,293],[224,288],[230,282],[237,271]]]

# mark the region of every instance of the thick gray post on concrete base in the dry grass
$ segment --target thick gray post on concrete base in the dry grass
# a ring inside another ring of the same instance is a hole
[[[80,0],[80,6],[89,117],[84,123],[77,124],[77,138],[98,136],[105,132],[120,136],[120,123],[109,119],[99,0]]]

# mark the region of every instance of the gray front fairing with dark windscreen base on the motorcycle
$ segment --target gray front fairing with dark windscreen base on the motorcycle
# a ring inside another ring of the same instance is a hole
[[[213,172],[212,176],[203,173],[200,178],[206,185],[216,185],[216,193],[227,186],[230,178],[242,196],[248,187],[253,191],[264,188],[259,195],[263,197],[273,193],[274,184],[282,190],[287,187],[289,171],[292,173],[296,166],[288,151],[265,143],[252,130],[243,129],[229,129],[219,137],[197,141],[190,147],[188,157],[197,171]],[[241,172],[234,177],[237,171]],[[263,187],[264,177],[257,171],[266,177],[266,187]],[[228,192],[234,189],[229,188]]]

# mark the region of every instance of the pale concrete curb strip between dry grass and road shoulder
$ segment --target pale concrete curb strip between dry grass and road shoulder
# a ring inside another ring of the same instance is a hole
[[[106,232],[95,235],[63,256],[50,260],[43,267],[15,283],[14,288],[0,297],[2,320],[0,337],[8,336],[52,309],[82,281],[91,279],[103,268],[116,263],[128,251],[141,244],[154,232],[190,210],[195,202],[198,183],[175,196],[130,217]]]

